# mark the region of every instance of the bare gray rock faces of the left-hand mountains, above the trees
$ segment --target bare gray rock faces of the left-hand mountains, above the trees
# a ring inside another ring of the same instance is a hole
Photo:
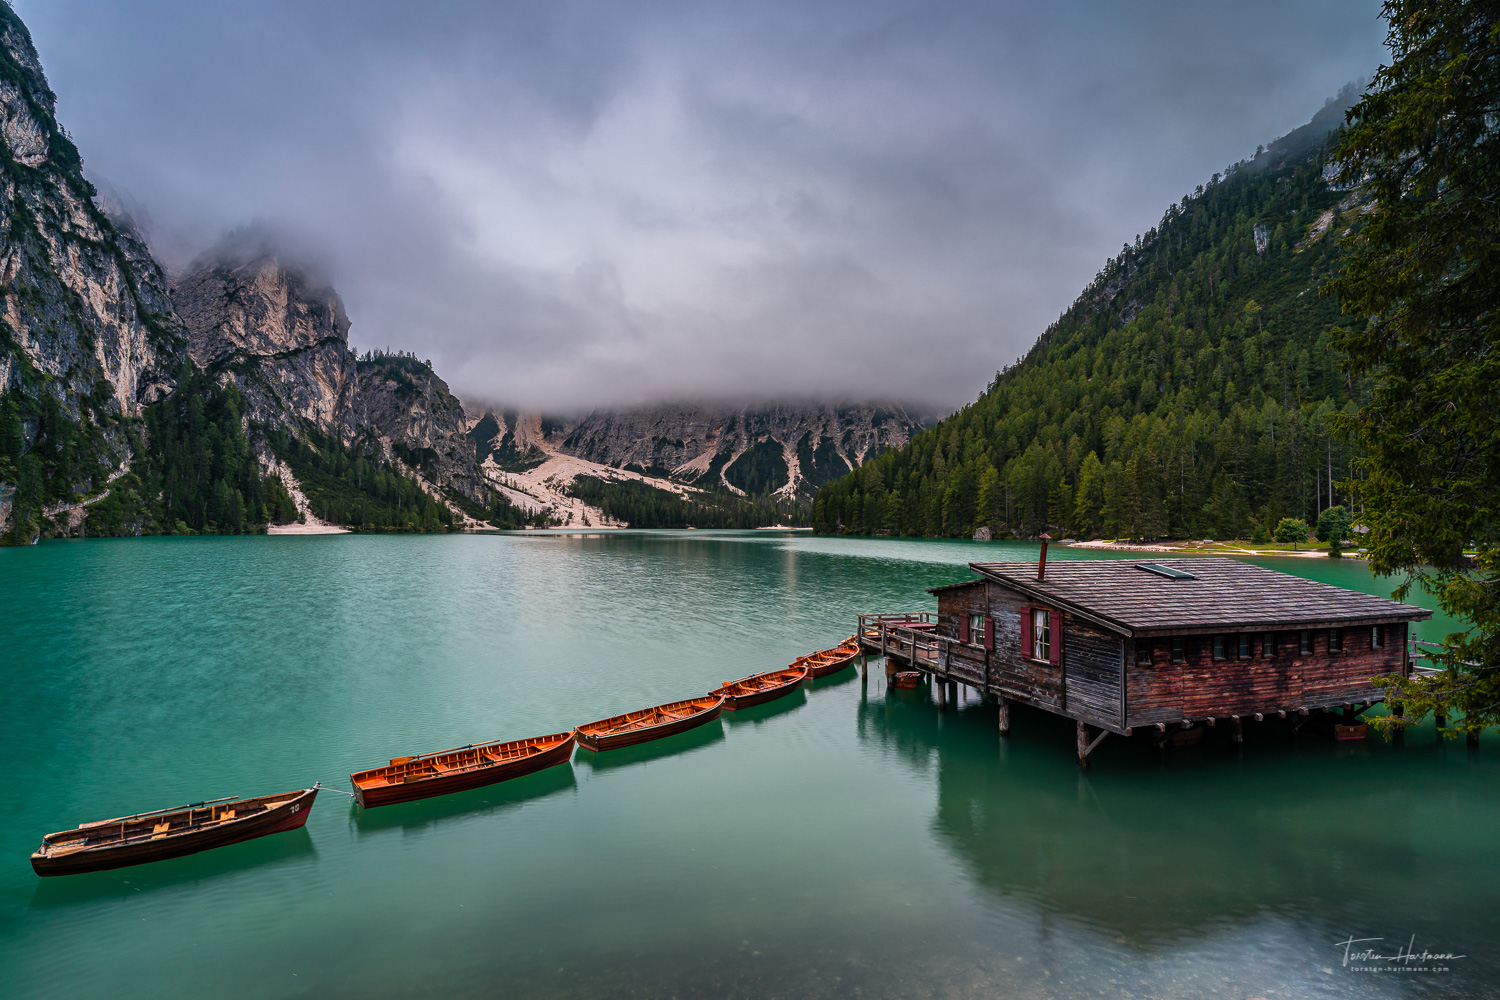
[[[488,496],[464,409],[430,367],[362,367],[338,292],[254,234],[171,285],[118,201],[84,178],[54,105],[30,33],[0,4],[0,394],[20,411],[22,454],[54,403],[72,424],[81,481],[51,499],[106,489],[132,459],[132,418],[189,366],[236,385],[249,423],[374,445],[434,486]],[[15,493],[0,483],[0,528]]]

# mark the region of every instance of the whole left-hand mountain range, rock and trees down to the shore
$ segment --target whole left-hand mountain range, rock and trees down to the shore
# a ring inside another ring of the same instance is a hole
[[[376,531],[514,522],[428,364],[357,358],[339,295],[264,240],[170,282],[54,102],[0,4],[0,540],[248,531],[314,505]]]

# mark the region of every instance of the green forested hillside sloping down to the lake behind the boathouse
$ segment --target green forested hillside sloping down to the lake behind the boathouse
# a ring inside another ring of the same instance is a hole
[[[1256,537],[1316,519],[1364,390],[1318,286],[1359,196],[1324,178],[1352,90],[1167,208],[984,394],[819,490],[824,532]],[[1328,175],[1332,175],[1330,172]]]

